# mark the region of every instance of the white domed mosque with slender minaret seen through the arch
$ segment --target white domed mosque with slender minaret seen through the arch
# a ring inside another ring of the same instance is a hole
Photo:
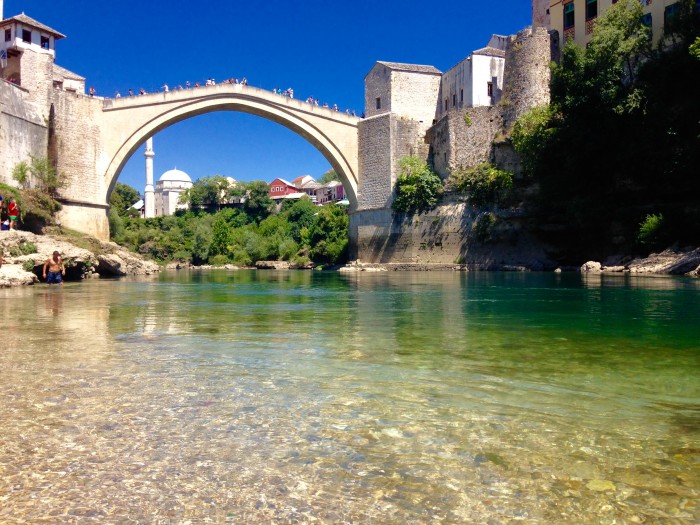
[[[153,188],[153,139],[146,141],[146,188],[144,194],[144,217],[173,215],[177,210],[187,209],[187,204],[179,204],[180,194],[192,187],[192,179],[184,171],[168,170],[160,176]]]

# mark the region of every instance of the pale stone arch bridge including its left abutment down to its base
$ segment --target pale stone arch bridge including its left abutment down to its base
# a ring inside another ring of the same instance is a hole
[[[357,202],[357,117],[242,84],[104,100],[81,98],[75,101],[81,106],[77,115],[72,107],[76,104],[62,104],[56,110],[58,164],[70,180],[62,192],[60,216],[67,227],[107,239],[108,197],[131,155],[158,131],[214,111],[257,115],[297,133],[329,161],[353,208]],[[81,158],[71,162],[75,157]],[[95,180],[76,180],[90,173]]]

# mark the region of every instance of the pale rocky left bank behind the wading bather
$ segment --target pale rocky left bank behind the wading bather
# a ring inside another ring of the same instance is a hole
[[[0,232],[3,264],[0,288],[40,282],[44,262],[57,250],[66,267],[67,280],[94,276],[149,275],[160,271],[153,261],[143,259],[112,242],[80,239],[88,248],[64,236],[35,235],[25,231]]]

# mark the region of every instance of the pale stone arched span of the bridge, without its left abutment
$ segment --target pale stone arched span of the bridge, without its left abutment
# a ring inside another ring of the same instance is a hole
[[[104,202],[120,171],[146,139],[188,118],[214,111],[239,111],[271,120],[311,143],[331,164],[354,207],[358,183],[357,117],[240,84],[105,100],[102,155]]]

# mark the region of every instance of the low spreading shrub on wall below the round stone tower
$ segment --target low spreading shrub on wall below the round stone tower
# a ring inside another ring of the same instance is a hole
[[[455,190],[467,195],[475,206],[506,202],[513,186],[513,176],[509,172],[499,170],[489,163],[457,170],[450,178]]]

